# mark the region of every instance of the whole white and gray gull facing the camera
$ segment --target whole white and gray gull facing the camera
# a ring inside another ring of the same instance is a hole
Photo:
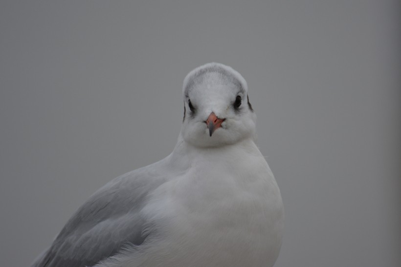
[[[247,91],[231,67],[192,70],[173,152],[100,188],[32,267],[273,266],[283,202]]]

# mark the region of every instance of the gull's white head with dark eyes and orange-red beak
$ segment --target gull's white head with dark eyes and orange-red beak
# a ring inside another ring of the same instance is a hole
[[[219,63],[192,70],[184,79],[182,138],[196,147],[234,144],[255,135],[256,115],[245,79]]]

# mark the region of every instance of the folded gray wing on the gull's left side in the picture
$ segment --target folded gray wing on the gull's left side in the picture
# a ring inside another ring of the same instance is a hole
[[[149,192],[165,180],[149,167],[115,178],[92,195],[32,267],[93,266],[125,245],[142,244],[139,212]]]

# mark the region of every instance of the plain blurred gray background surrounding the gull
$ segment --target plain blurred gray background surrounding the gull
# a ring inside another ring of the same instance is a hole
[[[99,187],[167,156],[182,80],[212,61],[247,80],[282,191],[276,267],[400,266],[399,11],[2,0],[1,266],[27,266]]]

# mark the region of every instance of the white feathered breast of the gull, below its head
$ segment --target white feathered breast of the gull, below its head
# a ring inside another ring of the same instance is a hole
[[[190,158],[143,212],[158,235],[145,266],[272,266],[281,246],[280,191],[253,142]]]

